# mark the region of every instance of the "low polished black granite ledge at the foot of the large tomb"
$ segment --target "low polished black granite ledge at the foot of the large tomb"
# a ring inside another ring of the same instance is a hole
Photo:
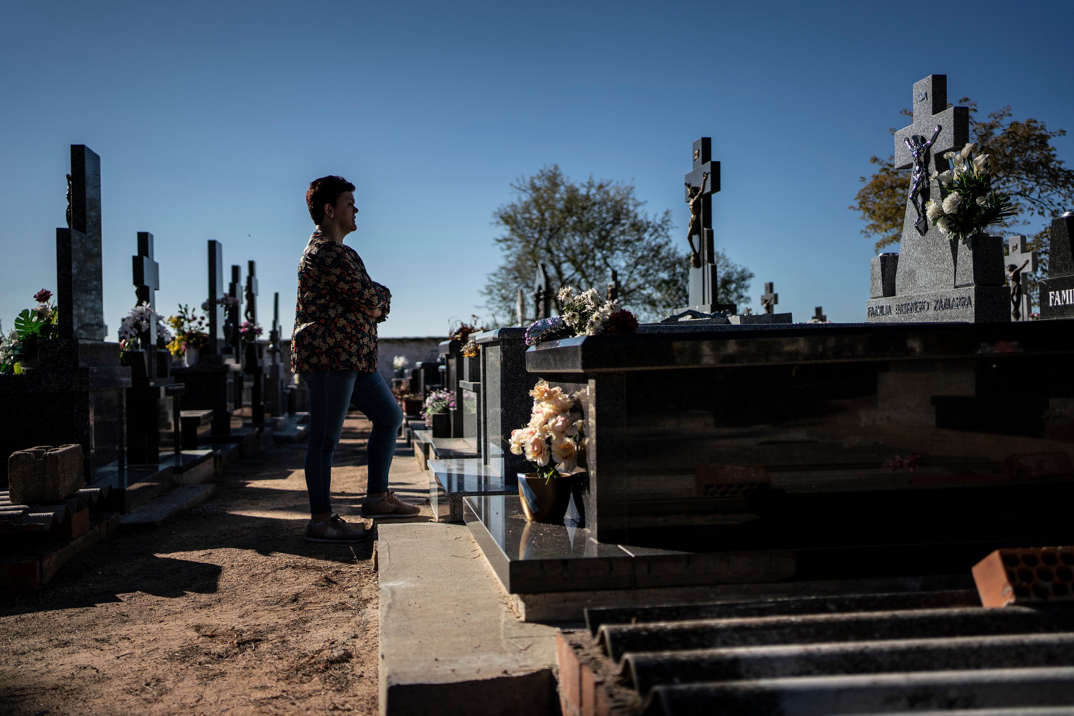
[[[1066,495],[1055,496],[1069,503]],[[755,520],[734,526],[638,530],[628,542],[598,542],[571,509],[561,525],[531,523],[517,496],[465,497],[464,517],[475,541],[510,594],[546,594],[777,581],[866,579],[969,573],[1002,546],[1069,543],[1074,526],[1036,515],[992,521],[989,529],[960,534],[963,521],[928,524],[903,510],[915,528],[909,539],[870,529],[872,515],[854,520]],[[1025,506],[1014,506],[1015,513]],[[975,512],[979,503],[967,502]]]

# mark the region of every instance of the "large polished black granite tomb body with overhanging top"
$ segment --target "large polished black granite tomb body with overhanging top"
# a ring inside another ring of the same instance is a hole
[[[1071,327],[709,326],[549,341],[526,364],[577,395],[585,527],[601,542],[736,516],[872,513],[912,540],[896,506],[943,523],[968,502],[982,518],[960,524],[976,539],[1011,496],[1062,492],[1027,479],[1074,484],[1060,406],[1074,396]],[[721,492],[751,482],[749,497]]]

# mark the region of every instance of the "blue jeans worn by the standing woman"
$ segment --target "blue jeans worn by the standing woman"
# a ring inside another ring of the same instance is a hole
[[[395,454],[395,436],[403,424],[403,410],[384,379],[378,372],[358,370],[317,370],[302,378],[309,385],[309,443],[305,467],[310,513],[332,511],[332,455],[351,403],[373,421],[366,445],[369,477],[365,492],[387,492],[388,470]]]

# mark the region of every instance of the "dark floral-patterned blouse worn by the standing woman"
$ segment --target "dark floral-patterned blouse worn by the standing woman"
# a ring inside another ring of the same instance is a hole
[[[377,323],[392,294],[373,281],[358,251],[319,231],[299,262],[299,304],[291,336],[291,370],[377,370]],[[359,307],[379,308],[379,318]]]

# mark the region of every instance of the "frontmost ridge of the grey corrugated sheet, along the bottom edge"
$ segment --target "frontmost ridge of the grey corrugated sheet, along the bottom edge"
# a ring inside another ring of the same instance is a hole
[[[958,705],[1010,710],[1072,703],[1074,668],[1056,667],[659,686],[653,689],[642,713],[822,716],[917,713]]]

